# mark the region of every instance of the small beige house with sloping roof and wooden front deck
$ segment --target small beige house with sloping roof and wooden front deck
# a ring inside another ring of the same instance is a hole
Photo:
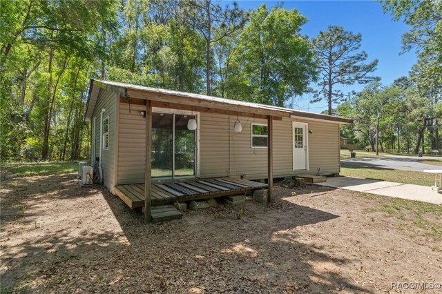
[[[102,182],[146,217],[154,204],[271,193],[276,177],[337,174],[339,125],[352,122],[99,79],[90,81],[86,121]]]

